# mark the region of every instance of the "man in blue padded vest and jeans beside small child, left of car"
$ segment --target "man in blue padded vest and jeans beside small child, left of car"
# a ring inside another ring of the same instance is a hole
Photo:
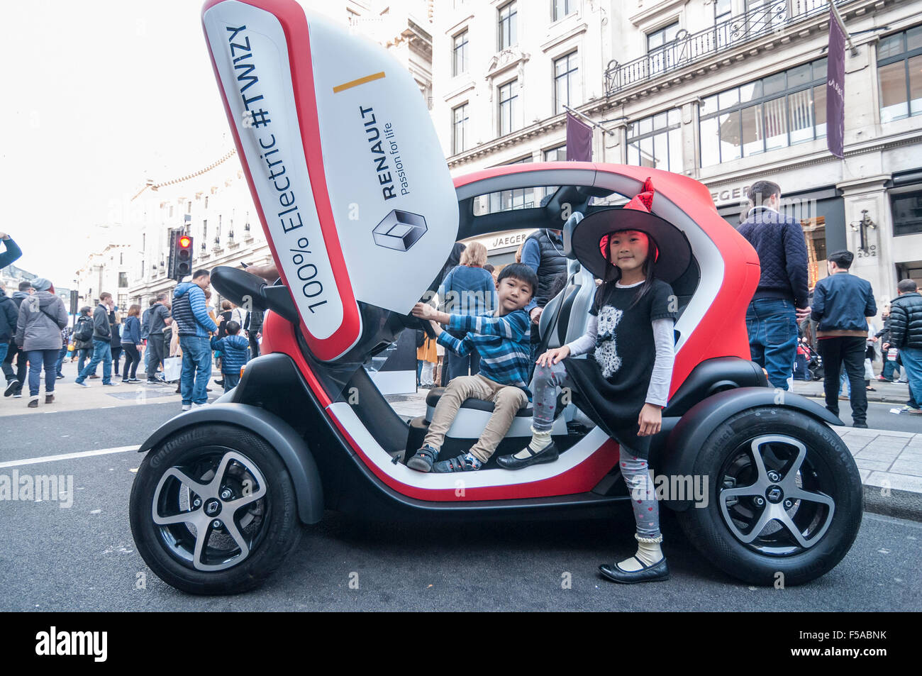
[[[176,286],[173,291],[173,330],[179,333],[179,346],[183,350],[183,374],[180,392],[183,410],[208,403],[207,385],[211,377],[210,333],[218,330],[205,303],[205,290],[211,284],[207,270],[196,270],[192,281]]]

